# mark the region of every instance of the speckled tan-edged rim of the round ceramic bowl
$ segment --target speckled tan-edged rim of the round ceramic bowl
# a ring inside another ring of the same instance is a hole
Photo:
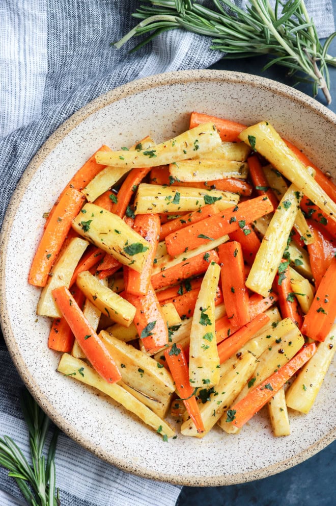
[[[223,474],[221,476],[215,475],[207,477],[194,476],[194,479],[190,479],[188,477],[181,478],[181,476],[178,474],[171,473],[163,475],[161,473],[155,473],[143,468],[133,467],[127,461],[117,459],[113,454],[105,452],[104,448],[100,447],[99,445],[88,443],[80,435],[79,431],[77,431],[75,427],[67,422],[61,413],[55,413],[52,404],[49,402],[48,397],[41,392],[39,385],[35,381],[35,378],[26,372],[24,361],[20,356],[20,349],[16,343],[15,336],[12,331],[11,321],[7,316],[6,286],[4,274],[8,237],[16,214],[16,209],[20,204],[21,199],[24,197],[26,186],[31,181],[33,175],[38,170],[44,159],[50,154],[52,149],[66,135],[69,134],[69,132],[71,132],[80,122],[85,120],[88,116],[95,113],[99,109],[111,103],[114,103],[128,95],[134,95],[151,88],[171,84],[185,84],[195,81],[227,81],[236,84],[248,84],[249,86],[258,87],[260,89],[268,89],[275,94],[290,98],[292,102],[296,103],[298,106],[314,110],[315,113],[323,116],[325,120],[336,127],[336,115],[310,96],[307,96],[304,93],[301,93],[300,91],[290,88],[282,83],[242,72],[232,72],[226,70],[182,70],[167,72],[163,74],[152,75],[151,77],[137,81],[132,81],[123,86],[110,90],[101,96],[98,96],[92,100],[92,102],[87,104],[85,107],[82,107],[72,116],[70,116],[70,118],[68,118],[61,126],[59,126],[59,128],[44,142],[30,164],[27,166],[13,193],[4,219],[2,232],[0,234],[0,320],[11,358],[24,384],[40,404],[45,413],[50,417],[50,419],[56,425],[62,427],[62,430],[74,441],[93,452],[100,459],[103,459],[104,461],[113,464],[126,472],[131,472],[145,478],[161,480],[184,486],[234,485],[238,483],[249,482],[255,479],[265,478],[267,476],[271,476],[278,472],[289,469],[297,464],[300,464],[301,462],[312,457],[314,454],[332,443],[336,439],[336,428],[308,448],[297,453],[294,457],[278,462],[277,464],[267,466],[264,469],[255,471],[236,473],[234,475]]]

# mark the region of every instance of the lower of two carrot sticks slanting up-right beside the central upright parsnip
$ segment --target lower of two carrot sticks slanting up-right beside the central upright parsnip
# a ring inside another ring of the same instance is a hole
[[[232,357],[232,355],[234,355],[239,348],[247,343],[247,341],[249,341],[256,332],[266,325],[268,321],[269,317],[262,313],[256,316],[254,320],[251,320],[240,328],[232,336],[228,337],[224,341],[221,341],[217,346],[220,364]]]

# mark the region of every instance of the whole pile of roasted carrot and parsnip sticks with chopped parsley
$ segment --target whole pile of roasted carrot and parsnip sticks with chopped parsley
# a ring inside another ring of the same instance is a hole
[[[336,330],[336,187],[267,121],[192,113],[102,146],[48,213],[29,274],[58,370],[160,434],[307,413]],[[175,424],[176,425],[176,424]]]

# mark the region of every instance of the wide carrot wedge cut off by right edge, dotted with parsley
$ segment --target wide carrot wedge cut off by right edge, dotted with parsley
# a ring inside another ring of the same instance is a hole
[[[336,258],[326,270],[313,303],[304,317],[302,334],[324,341],[336,318]]]

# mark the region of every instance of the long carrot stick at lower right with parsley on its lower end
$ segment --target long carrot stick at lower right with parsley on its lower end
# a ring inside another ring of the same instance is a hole
[[[314,353],[316,344],[305,344],[295,357],[258,385],[227,411],[227,421],[240,428],[253,417]]]

